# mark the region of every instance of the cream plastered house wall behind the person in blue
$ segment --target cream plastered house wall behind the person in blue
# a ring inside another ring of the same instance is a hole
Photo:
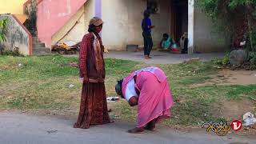
[[[160,14],[151,16],[156,28],[152,31],[154,45],[158,45],[162,34],[170,32],[168,0],[160,1]],[[146,0],[102,1],[103,44],[109,50],[126,50],[127,44],[143,45],[141,22]]]

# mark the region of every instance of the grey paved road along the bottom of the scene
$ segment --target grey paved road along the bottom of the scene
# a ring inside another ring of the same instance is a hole
[[[158,130],[144,134],[128,134],[132,124],[116,122],[105,126],[94,126],[89,130],[72,128],[74,120],[34,116],[18,113],[0,113],[1,144],[205,144],[205,143],[256,143],[256,139],[218,137],[214,134]]]

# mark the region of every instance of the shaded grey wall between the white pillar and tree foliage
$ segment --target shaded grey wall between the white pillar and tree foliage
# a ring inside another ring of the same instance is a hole
[[[194,9],[194,52],[219,52],[229,49],[226,32],[216,32],[210,18]]]

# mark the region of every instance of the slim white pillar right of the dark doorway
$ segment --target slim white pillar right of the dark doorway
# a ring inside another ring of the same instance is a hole
[[[189,15],[188,15],[188,54],[193,54],[194,52],[194,0],[188,1],[188,9],[189,9]]]

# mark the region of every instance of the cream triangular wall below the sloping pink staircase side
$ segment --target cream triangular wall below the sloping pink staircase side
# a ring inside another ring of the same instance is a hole
[[[66,23],[66,25],[62,26],[62,28],[53,35],[51,45],[54,46],[58,41],[59,42],[66,42],[66,41],[81,42],[83,35],[87,33],[90,18],[92,18],[93,16],[94,16],[94,0],[87,0],[85,5],[82,6],[78,10],[78,12],[74,14],[72,18],[70,18],[70,20]],[[74,26],[76,22],[77,24]],[[63,36],[65,37],[63,38]]]

